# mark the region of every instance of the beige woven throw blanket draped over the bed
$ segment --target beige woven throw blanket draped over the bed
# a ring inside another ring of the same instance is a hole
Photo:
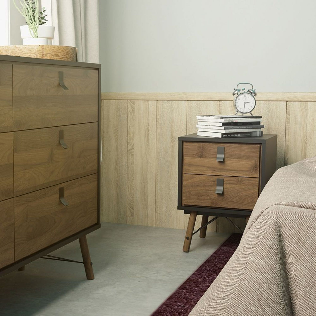
[[[316,156],[274,173],[190,316],[316,316]]]

